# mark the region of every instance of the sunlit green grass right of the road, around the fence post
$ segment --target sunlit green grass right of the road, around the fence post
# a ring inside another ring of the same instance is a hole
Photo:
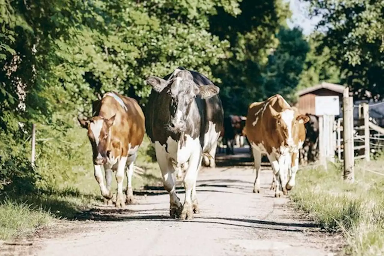
[[[291,193],[293,205],[329,232],[343,232],[354,256],[384,255],[384,159],[355,165],[355,183],[343,181],[341,165],[303,169]]]

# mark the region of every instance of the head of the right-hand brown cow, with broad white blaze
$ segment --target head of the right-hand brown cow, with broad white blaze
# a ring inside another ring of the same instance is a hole
[[[269,105],[271,115],[275,119],[277,134],[282,142],[283,148],[289,148],[290,152],[295,149],[295,136],[298,136],[298,125],[307,123],[310,118],[301,115],[292,108],[283,108],[280,112]]]

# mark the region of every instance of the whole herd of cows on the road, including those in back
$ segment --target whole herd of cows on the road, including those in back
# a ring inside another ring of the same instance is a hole
[[[312,116],[301,115],[276,94],[265,101],[252,103],[246,118],[224,117],[218,96],[220,89],[206,76],[183,67],[176,68],[164,78],[149,76],[146,83],[152,86],[152,91],[145,114],[136,100],[108,92],[101,100],[94,101],[91,118],[78,117],[80,125],[88,130],[94,175],[107,204],[124,207],[134,203],[132,174],[144,133],[156,152],[163,185],[169,193],[172,218],[192,219],[194,213],[199,213],[198,171],[202,163],[215,167],[220,139],[232,145],[227,153],[233,153],[235,136],[246,136],[256,168],[253,192],[260,193],[262,154],[268,157],[272,166],[271,188],[276,197],[287,194],[295,186],[299,155],[303,155],[299,151],[314,147],[314,143],[306,143],[313,141],[315,136],[308,133],[306,126],[316,121],[311,120]],[[111,190],[113,171],[116,171],[118,184],[116,194]],[[124,172],[127,176],[125,198]],[[184,176],[183,204],[175,188],[175,176],[180,174]]]

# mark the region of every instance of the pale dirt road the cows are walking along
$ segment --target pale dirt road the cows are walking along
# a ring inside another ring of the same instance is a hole
[[[139,204],[117,211],[94,209],[92,221],[78,221],[76,232],[41,239],[34,246],[41,256],[325,256],[338,245],[319,232],[269,190],[271,170],[261,172],[262,193],[252,193],[251,163],[237,155],[215,170],[203,169],[197,183],[200,214],[192,221],[169,219],[169,196],[150,187]],[[240,160],[239,160],[240,159]],[[241,162],[242,166],[233,165]],[[184,201],[184,192],[178,189]],[[88,216],[88,217],[89,217]]]

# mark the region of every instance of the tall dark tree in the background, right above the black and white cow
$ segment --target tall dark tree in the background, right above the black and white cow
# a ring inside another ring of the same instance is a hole
[[[265,98],[262,72],[290,11],[281,0],[243,0],[240,9],[242,13],[231,18],[218,8],[217,15],[210,17],[210,31],[231,43],[229,58],[214,67],[214,76],[221,80],[218,85],[225,113],[246,115],[252,101]]]

